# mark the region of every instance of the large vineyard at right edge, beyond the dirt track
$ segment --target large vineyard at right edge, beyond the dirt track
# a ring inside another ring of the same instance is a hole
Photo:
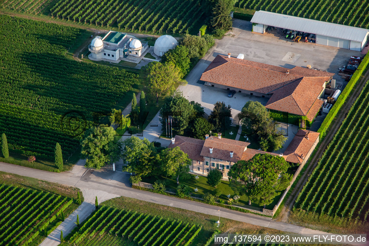
[[[294,206],[369,221],[369,83],[303,187]]]

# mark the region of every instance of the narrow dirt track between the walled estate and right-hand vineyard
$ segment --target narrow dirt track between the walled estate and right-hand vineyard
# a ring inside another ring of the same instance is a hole
[[[351,93],[351,95],[348,97],[344,105],[342,105],[341,110],[339,110],[338,114],[333,119],[330,127],[327,130],[327,135],[320,143],[320,146],[315,155],[311,157],[309,165],[307,166],[306,170],[304,171],[300,179],[297,181],[296,185],[292,190],[292,193],[289,195],[286,202],[284,203],[282,211],[280,212],[279,216],[276,219],[277,221],[288,222],[290,211],[295,203],[297,195],[299,195],[307,179],[317,166],[318,160],[323,155],[325,149],[327,148],[328,143],[332,140],[332,138],[338,131],[339,126],[342,124],[342,121],[346,118],[349,109],[351,108],[352,104],[354,104],[356,98],[359,96],[362,88],[364,87],[365,83],[368,80],[368,77],[369,77],[369,69],[362,76],[362,79],[356,84],[355,90]]]

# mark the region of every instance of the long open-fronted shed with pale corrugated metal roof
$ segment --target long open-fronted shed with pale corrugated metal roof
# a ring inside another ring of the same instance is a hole
[[[256,11],[251,19],[254,32],[264,33],[268,26],[315,34],[317,44],[361,51],[369,30],[359,27],[310,20],[268,11]]]

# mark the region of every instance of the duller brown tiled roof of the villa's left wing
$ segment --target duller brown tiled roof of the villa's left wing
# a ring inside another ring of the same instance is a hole
[[[196,138],[189,138],[180,135],[176,135],[174,144],[169,143],[168,148],[174,148],[179,146],[179,148],[184,152],[187,153],[190,159],[192,160],[199,160],[201,162],[204,161],[204,157],[200,155],[201,149],[204,146],[205,140],[196,139]]]

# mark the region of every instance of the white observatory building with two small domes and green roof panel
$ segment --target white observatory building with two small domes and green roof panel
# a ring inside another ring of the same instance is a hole
[[[103,38],[96,36],[89,45],[91,52],[89,58],[92,60],[118,60],[128,55],[140,57],[148,48],[132,35],[123,32],[109,31]]]

